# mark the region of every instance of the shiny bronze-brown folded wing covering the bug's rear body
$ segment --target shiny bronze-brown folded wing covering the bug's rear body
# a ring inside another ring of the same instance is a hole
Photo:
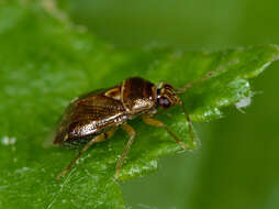
[[[54,144],[97,134],[126,121],[122,102],[96,90],[74,99],[62,119]]]

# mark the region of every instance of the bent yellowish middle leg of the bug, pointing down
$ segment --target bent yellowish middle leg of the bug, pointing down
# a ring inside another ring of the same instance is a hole
[[[124,151],[123,151],[123,153],[122,153],[120,160],[118,161],[116,170],[115,170],[115,179],[119,178],[120,168],[121,168],[121,166],[122,166],[122,164],[123,164],[125,157],[127,156],[127,153],[129,153],[129,151],[130,151],[130,148],[131,148],[131,145],[132,145],[134,139],[135,139],[135,130],[134,130],[131,125],[129,125],[129,124],[123,124],[123,125],[122,125],[122,129],[124,129],[124,131],[127,132],[127,134],[130,135],[130,139],[129,139],[129,141],[127,141],[127,143],[126,143],[126,145],[125,145],[125,147],[124,147]]]

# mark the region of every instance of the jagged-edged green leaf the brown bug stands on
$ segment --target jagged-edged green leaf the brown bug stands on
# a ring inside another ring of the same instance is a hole
[[[9,16],[9,18],[7,18]],[[181,95],[193,121],[222,117],[223,108],[253,96],[248,79],[279,57],[276,45],[222,52],[147,47],[119,51],[71,24],[52,7],[0,2],[0,207],[125,208],[115,163],[127,141],[119,130],[97,144],[60,182],[55,176],[77,154],[47,145],[63,110],[80,94],[142,76],[183,87],[216,74]],[[194,148],[180,107],[157,117]],[[164,131],[131,121],[136,139],[121,180],[157,169],[160,156],[181,148]]]

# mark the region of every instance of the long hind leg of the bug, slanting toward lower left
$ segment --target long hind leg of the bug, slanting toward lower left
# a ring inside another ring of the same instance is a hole
[[[90,140],[86,145],[85,147],[78,153],[78,155],[67,165],[67,167],[65,167],[60,174],[58,174],[56,176],[56,179],[58,180],[62,176],[64,176],[65,174],[67,174],[70,169],[70,167],[78,161],[78,158],[91,146],[93,145],[94,143],[98,143],[98,142],[102,142],[104,141],[105,139],[110,138],[113,135],[115,130],[111,130],[107,133],[101,133],[100,135],[97,135],[94,136],[92,140]]]

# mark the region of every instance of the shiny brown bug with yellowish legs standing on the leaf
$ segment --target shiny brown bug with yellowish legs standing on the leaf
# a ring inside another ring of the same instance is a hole
[[[193,138],[190,117],[187,114],[182,101],[179,100],[178,94],[185,92],[211,75],[212,73],[209,73],[200,80],[176,90],[168,84],[161,82],[155,86],[141,77],[132,77],[115,87],[96,90],[74,99],[66,109],[53,143],[71,144],[86,141],[87,144],[56,178],[64,176],[92,144],[111,138],[115,129],[121,127],[129,133],[130,140],[116,164],[115,178],[118,178],[120,168],[135,138],[135,131],[127,124],[127,121],[138,116],[142,116],[145,123],[165,129],[182,148],[187,150],[187,145],[168,127],[152,117],[159,107],[167,109],[180,105],[188,120],[191,138]]]

